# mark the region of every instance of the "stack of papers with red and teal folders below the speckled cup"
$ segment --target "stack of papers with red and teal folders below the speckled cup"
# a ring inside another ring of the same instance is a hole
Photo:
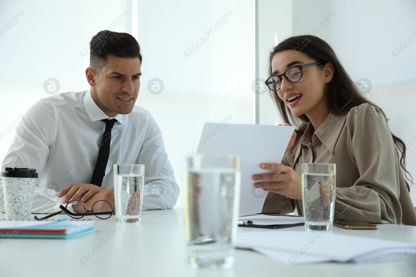
[[[0,238],[73,238],[95,230],[95,221],[0,221]]]

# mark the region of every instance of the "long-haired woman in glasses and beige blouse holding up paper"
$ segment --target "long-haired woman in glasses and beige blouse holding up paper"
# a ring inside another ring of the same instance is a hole
[[[277,110],[296,130],[281,164],[260,164],[277,174],[252,176],[255,187],[269,191],[262,213],[296,208],[302,215],[300,164],[335,163],[336,220],[416,226],[404,141],[329,44],[308,35],[285,39],[270,52],[269,74]]]

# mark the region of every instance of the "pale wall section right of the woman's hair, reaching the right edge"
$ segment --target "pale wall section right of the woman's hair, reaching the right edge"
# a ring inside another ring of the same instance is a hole
[[[406,145],[416,143],[416,2],[347,1],[340,6],[342,2],[331,1],[331,9],[337,11],[330,25],[331,46],[354,80],[369,80],[373,88],[368,97],[384,108],[391,130]],[[409,37],[415,41],[394,58],[392,51]],[[406,161],[416,182],[414,147],[408,149]],[[411,187],[411,197],[416,206],[416,186]]]

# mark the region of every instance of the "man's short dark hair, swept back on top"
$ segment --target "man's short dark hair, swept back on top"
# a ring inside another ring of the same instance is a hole
[[[99,75],[107,64],[108,55],[120,58],[139,58],[141,63],[140,46],[137,40],[127,33],[99,31],[89,42],[89,67]]]

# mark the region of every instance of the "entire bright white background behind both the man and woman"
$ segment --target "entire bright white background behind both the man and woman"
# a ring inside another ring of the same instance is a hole
[[[322,22],[331,12],[336,15]],[[396,49],[416,40],[415,12],[414,0],[2,0],[0,159],[12,142],[13,121],[49,96],[46,79],[59,81],[58,93],[88,89],[89,41],[104,29],[138,39],[143,76],[136,103],[161,128],[180,187],[181,159],[198,144],[205,122],[229,114],[230,123],[280,123],[268,93],[256,95],[252,83],[267,78],[268,51],[277,42],[315,27],[352,78],[366,78],[367,96],[384,108],[391,130],[416,144],[416,42]],[[227,20],[218,22],[223,15]],[[204,32],[215,23],[220,27],[208,37]],[[191,53],[188,47],[203,36]],[[149,91],[152,78],[163,82],[161,93]],[[416,179],[415,148],[408,147],[407,169]],[[416,203],[416,186],[411,195]],[[180,196],[176,206],[182,205]]]

